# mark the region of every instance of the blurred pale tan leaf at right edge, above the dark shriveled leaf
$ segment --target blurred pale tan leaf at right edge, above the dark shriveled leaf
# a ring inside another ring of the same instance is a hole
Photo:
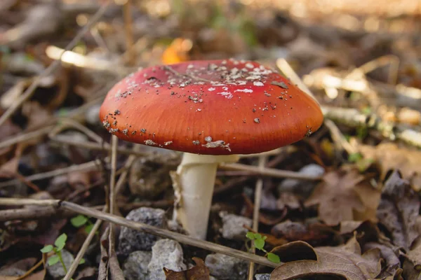
[[[421,151],[399,148],[394,143],[361,145],[359,148],[364,158],[375,160],[380,167],[382,179],[389,170],[398,169],[403,179],[409,180],[416,191],[421,190]]]

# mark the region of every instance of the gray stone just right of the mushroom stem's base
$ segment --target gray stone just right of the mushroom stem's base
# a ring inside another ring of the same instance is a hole
[[[248,225],[251,227],[251,219],[243,216],[236,216],[234,214],[226,214],[225,212],[220,212],[220,217],[222,218],[222,237],[226,239],[246,239],[247,229],[243,228],[243,225]]]

